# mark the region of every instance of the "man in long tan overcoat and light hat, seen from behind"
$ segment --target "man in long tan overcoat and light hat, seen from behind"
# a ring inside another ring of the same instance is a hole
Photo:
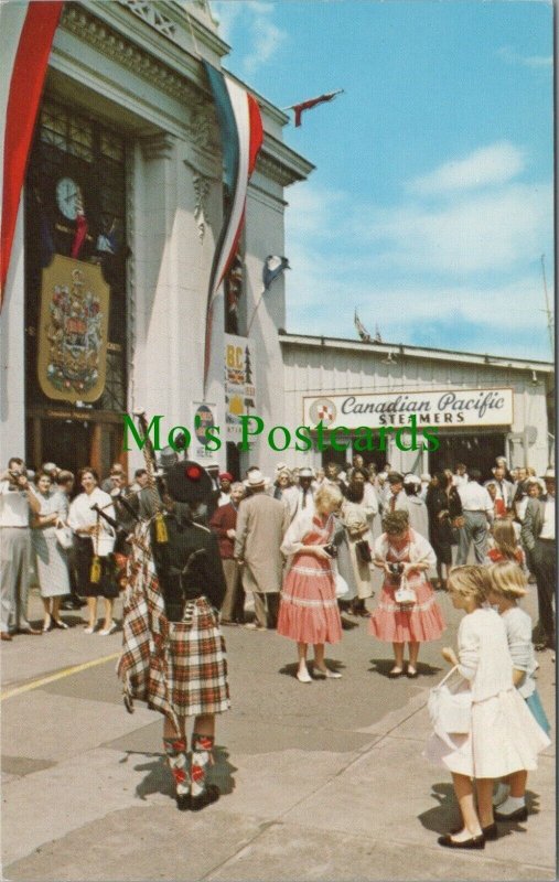
[[[243,587],[255,599],[256,622],[247,627],[266,631],[278,621],[279,592],[283,577],[280,551],[290,524],[288,506],[265,493],[266,477],[259,469],[247,475],[250,491],[239,507],[235,537],[235,558],[244,564]]]

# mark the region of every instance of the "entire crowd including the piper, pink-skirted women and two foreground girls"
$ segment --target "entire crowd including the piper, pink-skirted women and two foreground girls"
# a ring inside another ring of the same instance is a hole
[[[356,454],[346,469],[278,463],[267,477],[252,465],[235,481],[217,463],[204,469],[168,452],[155,475],[140,469],[129,483],[116,463],[101,483],[90,466],[76,478],[54,463],[32,474],[12,458],[0,475],[2,641],[66,628],[61,611],[83,605],[85,632],[107,636],[117,628],[115,599],[127,589],[120,674],[128,699],[135,693],[164,713],[178,806],[197,810],[218,798],[205,773],[214,716],[229,707],[223,626],[291,639],[297,679],[310,685],[342,677],[326,665],[325,645],[365,619],[370,636],[391,645],[388,676],[416,678],[421,644],[445,630],[436,591],[447,590],[465,616],[458,655],[447,647],[443,656],[469,682],[472,710],[467,734],[449,740],[438,733],[429,749],[452,772],[463,818],[461,830],[440,845],[483,848],[496,836],[495,818],[524,817],[527,773],[549,743],[534,649],[555,647],[556,482],[551,469],[541,477],[533,471],[509,473],[497,460],[482,484],[481,473],[464,464],[432,476],[401,474],[388,463],[377,472]],[[146,559],[138,562],[137,549],[143,555],[147,547],[152,570]],[[32,553],[44,605],[41,630],[28,620]],[[529,581],[538,594],[534,633],[517,606]],[[146,619],[148,606],[159,619]],[[151,656],[141,648],[154,621],[170,646],[158,663],[155,685],[166,684],[161,693],[150,692]],[[492,798],[497,778],[504,793],[498,813]]]

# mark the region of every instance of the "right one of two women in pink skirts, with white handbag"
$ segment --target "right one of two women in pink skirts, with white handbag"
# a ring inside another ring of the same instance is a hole
[[[438,639],[444,622],[426,571],[434,567],[433,549],[409,526],[407,512],[391,512],[383,518],[385,530],[375,542],[374,563],[386,577],[377,609],[370,616],[369,633],[393,644],[395,666],[389,677],[404,674],[404,646],[409,646],[408,677],[417,677],[419,644]],[[412,589],[415,601],[398,603],[395,594],[402,580]]]

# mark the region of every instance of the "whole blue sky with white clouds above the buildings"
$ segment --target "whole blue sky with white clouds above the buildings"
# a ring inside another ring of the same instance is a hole
[[[286,191],[287,330],[550,357],[552,7],[214,0],[226,66],[316,165]]]

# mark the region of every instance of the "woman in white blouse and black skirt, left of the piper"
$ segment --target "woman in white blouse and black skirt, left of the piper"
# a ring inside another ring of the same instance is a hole
[[[115,598],[118,598],[118,585],[108,558],[112,550],[114,537],[111,540],[110,528],[103,518],[98,518],[96,512],[92,510],[92,506],[98,505],[111,518],[115,518],[115,508],[109,494],[99,488],[99,478],[94,469],[89,466],[82,469],[77,480],[84,492],[76,496],[69,506],[68,526],[74,530],[76,542],[77,590],[79,595],[87,600],[88,623],[85,632],[93,634],[97,627],[97,599],[103,596],[105,622],[99,634],[107,636],[117,628],[112,621],[112,606]],[[99,557],[101,567],[100,578],[96,582],[92,582],[90,578],[94,556]]]

